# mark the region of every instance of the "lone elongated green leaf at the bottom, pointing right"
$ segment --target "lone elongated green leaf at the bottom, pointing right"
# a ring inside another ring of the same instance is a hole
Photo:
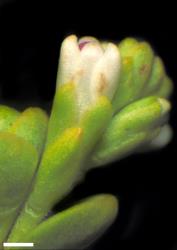
[[[112,224],[118,211],[117,199],[96,195],[41,223],[25,241],[34,249],[83,249]]]

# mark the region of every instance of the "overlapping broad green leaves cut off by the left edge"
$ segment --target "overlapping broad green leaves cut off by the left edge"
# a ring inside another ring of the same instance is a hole
[[[19,212],[42,152],[47,116],[38,108],[20,113],[0,106],[0,242]]]

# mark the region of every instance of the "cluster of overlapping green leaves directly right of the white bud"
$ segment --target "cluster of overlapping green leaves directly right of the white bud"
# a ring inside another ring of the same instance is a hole
[[[162,60],[146,42],[126,38],[118,45],[122,67],[113,99],[114,112],[148,95],[169,98],[172,81],[166,75]]]

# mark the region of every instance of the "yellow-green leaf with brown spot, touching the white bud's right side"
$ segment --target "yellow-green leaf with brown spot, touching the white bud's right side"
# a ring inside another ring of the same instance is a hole
[[[119,46],[122,67],[120,80],[113,99],[114,112],[143,95],[151,74],[154,53],[146,42],[128,39]]]

